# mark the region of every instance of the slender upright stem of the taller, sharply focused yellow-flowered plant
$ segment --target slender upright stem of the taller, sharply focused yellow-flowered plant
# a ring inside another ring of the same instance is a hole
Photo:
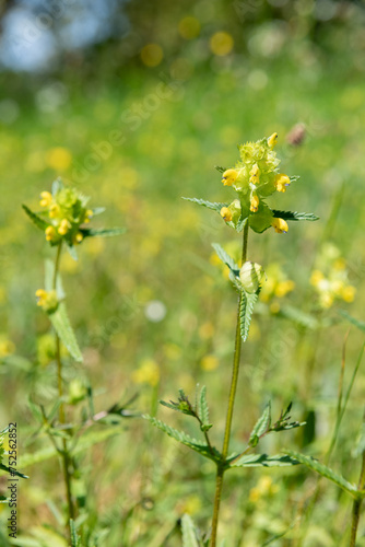
[[[247,238],[248,238],[248,222],[246,222],[245,228],[244,228],[242,264],[244,264],[247,260]],[[234,405],[235,405],[235,397],[236,397],[236,389],[237,389],[237,382],[238,382],[239,361],[240,361],[240,345],[242,345],[240,324],[239,324],[240,304],[242,304],[242,293],[239,293],[238,306],[237,306],[235,352],[234,352],[234,358],[233,358],[233,370],[232,370],[227,416],[226,416],[226,420],[225,420],[222,459],[216,466],[215,498],[214,498],[214,509],[213,509],[213,520],[212,520],[212,535],[211,535],[211,544],[210,544],[211,547],[216,546],[216,532],[217,532],[217,523],[219,523],[219,516],[220,516],[223,476],[224,476],[224,472],[225,472],[226,457],[227,457],[228,449],[229,449],[233,409],[234,409]]]

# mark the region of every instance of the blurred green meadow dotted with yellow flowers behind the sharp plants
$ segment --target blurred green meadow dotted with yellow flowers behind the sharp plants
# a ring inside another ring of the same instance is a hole
[[[250,235],[249,259],[268,279],[243,347],[232,450],[269,400],[274,416],[293,401],[293,418],[307,426],[281,443],[322,458],[341,362],[348,386],[364,338],[341,314],[364,319],[364,3],[17,0],[0,2],[0,426],[16,421],[19,469],[30,476],[12,543],[0,504],[0,545],[68,545],[57,533],[57,457],[21,466],[49,444],[31,406],[57,397],[54,341],[35,299],[54,249],[21,205],[39,210],[39,194],[60,176],[106,208],[93,225],[127,229],[85,241],[78,261],[66,253],[61,264],[84,357],[80,364],[64,356],[74,419],[87,415],[87,388],[95,414],[123,408],[92,426],[95,434],[104,428],[104,442],[76,454],[84,545],[179,546],[184,513],[208,527],[214,466],[140,415],[180,426],[186,417],[158,399],[176,400],[179,387],[193,398],[196,384],[207,385],[211,435],[221,442],[236,294],[211,244],[237,260],[240,249],[219,216],[181,197],[226,201],[231,189],[214,167],[234,165],[237,144],[278,131],[281,168],[301,178],[273,206],[320,220]],[[331,456],[351,482],[364,391],[360,369]],[[263,440],[263,450],[276,453],[276,442]],[[306,521],[316,481],[302,466],[232,472],[224,546],[274,537],[274,547],[348,545],[351,504],[335,486],[321,482]],[[365,546],[365,521],[356,545]]]

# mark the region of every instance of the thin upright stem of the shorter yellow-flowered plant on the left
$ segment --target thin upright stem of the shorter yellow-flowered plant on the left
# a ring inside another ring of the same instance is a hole
[[[57,277],[59,272],[60,259],[61,259],[61,251],[62,251],[62,242],[59,243],[57,247],[57,255],[55,260],[55,272],[54,272],[54,281],[52,289],[57,290]],[[64,416],[64,406],[62,403],[63,396],[63,385],[62,385],[62,360],[61,360],[61,340],[56,333],[56,361],[57,361],[57,384],[58,384],[58,397],[60,399],[59,407],[59,422],[60,424],[66,423]],[[72,492],[71,492],[71,475],[70,475],[70,456],[67,446],[67,440],[62,439],[62,467],[63,467],[63,481],[66,486],[66,496],[67,496],[67,504],[68,504],[68,528],[70,532],[70,519],[74,520],[74,507],[72,501]]]

